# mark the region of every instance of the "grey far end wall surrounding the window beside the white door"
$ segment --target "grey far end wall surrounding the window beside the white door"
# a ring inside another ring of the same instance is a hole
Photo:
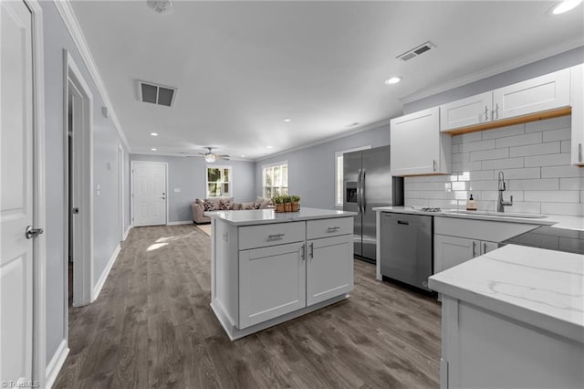
[[[130,154],[130,161],[168,163],[169,222],[193,221],[191,203],[205,198],[205,166],[232,166],[233,194],[236,203],[255,200],[255,163],[245,161],[217,161],[205,163],[199,157],[172,157],[163,155]],[[130,172],[130,170],[128,171]],[[174,189],[180,189],[175,193]]]

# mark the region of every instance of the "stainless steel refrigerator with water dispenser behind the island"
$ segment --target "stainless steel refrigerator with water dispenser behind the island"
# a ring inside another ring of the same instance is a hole
[[[376,206],[403,205],[403,177],[390,173],[390,146],[343,154],[343,209],[355,216],[355,257],[375,263]]]

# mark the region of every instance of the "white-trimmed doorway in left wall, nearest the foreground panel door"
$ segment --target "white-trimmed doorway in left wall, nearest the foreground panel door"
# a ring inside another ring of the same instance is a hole
[[[92,287],[92,100],[89,86],[64,50],[65,62],[65,246],[67,307],[87,305]],[[66,312],[68,309],[65,310]],[[66,319],[67,322],[67,319]]]

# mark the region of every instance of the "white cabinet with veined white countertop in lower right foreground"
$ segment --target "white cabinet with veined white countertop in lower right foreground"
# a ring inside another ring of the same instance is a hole
[[[429,286],[443,295],[442,388],[583,387],[581,254],[507,245]]]

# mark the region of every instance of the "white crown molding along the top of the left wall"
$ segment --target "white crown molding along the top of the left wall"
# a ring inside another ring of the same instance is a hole
[[[67,26],[69,35],[71,36],[71,38],[73,38],[73,42],[75,43],[75,46],[79,51],[81,59],[83,60],[83,63],[89,70],[89,75],[91,76],[91,79],[93,79],[93,82],[98,88],[101,100],[103,100],[103,103],[106,105],[106,107],[108,107],[108,110],[110,112],[110,119],[113,122],[116,131],[118,131],[118,135],[120,136],[121,142],[123,142],[124,146],[126,146],[128,153],[130,153],[131,152],[130,144],[128,143],[126,134],[121,129],[121,124],[120,121],[118,120],[118,116],[116,115],[116,111],[113,108],[113,104],[111,103],[108,90],[106,89],[103,79],[101,79],[98,66],[96,65],[95,60],[91,55],[91,50],[89,50],[88,42],[87,40],[85,40],[85,36],[83,35],[81,26],[79,26],[77,16],[75,16],[75,12],[73,12],[73,8],[71,7],[69,0],[54,0],[53,3],[57,7],[57,11],[61,18],[63,19],[65,26]]]

